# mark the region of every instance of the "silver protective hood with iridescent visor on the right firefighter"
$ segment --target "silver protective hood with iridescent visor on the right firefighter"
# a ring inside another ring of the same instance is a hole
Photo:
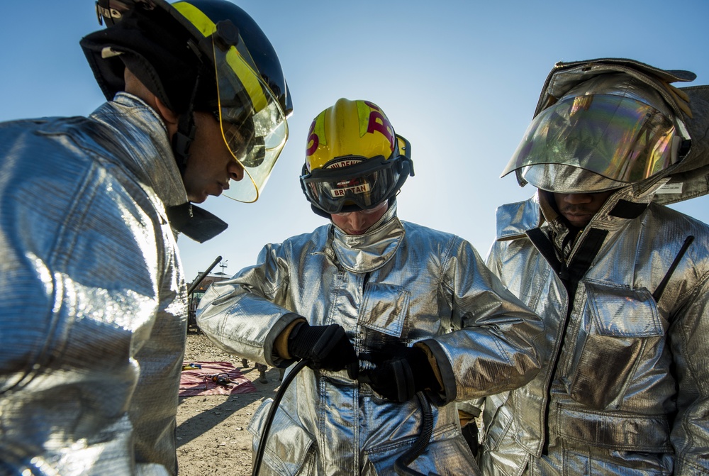
[[[535,119],[503,175],[514,170],[521,186],[529,182],[563,193],[635,184],[642,193],[656,190],[654,201],[663,204],[708,193],[709,87],[669,85],[695,77],[634,60],[557,63],[542,89]],[[571,123],[579,101],[581,106],[593,101],[597,111],[585,135]],[[562,114],[548,119],[549,108]],[[599,124],[599,118],[608,122]],[[624,131],[634,131],[638,140],[627,140]],[[659,146],[644,143],[648,131]]]

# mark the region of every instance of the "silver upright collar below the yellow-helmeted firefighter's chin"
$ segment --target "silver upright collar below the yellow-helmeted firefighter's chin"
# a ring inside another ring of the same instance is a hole
[[[406,231],[396,216],[396,201],[364,235],[347,235],[333,224],[332,248],[340,265],[351,272],[372,272],[393,258]]]

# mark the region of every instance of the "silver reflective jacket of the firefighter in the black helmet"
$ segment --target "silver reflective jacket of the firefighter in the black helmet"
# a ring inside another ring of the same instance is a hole
[[[162,121],[0,124],[0,475],[172,475],[186,201]]]

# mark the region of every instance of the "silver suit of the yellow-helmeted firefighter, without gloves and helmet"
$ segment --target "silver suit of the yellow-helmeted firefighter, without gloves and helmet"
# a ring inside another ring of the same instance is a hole
[[[424,474],[479,474],[448,403],[518,387],[538,370],[540,319],[469,243],[399,221],[396,204],[362,236],[327,225],[267,245],[257,265],[208,289],[197,321],[231,353],[286,365],[274,340],[298,314],[313,325],[339,323],[358,353],[391,341],[428,345],[444,390],[432,441],[411,465]],[[252,419],[255,436],[270,405]],[[389,402],[344,370],[305,367],[281,401],[260,474],[391,475],[420,415],[416,399]]]

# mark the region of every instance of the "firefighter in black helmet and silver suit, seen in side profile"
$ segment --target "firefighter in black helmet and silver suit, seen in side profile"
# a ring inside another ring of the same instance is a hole
[[[278,58],[237,6],[96,6],[81,45],[108,101],[0,123],[3,476],[177,473],[177,233],[223,231],[193,203],[230,182],[253,201],[286,138]]]

